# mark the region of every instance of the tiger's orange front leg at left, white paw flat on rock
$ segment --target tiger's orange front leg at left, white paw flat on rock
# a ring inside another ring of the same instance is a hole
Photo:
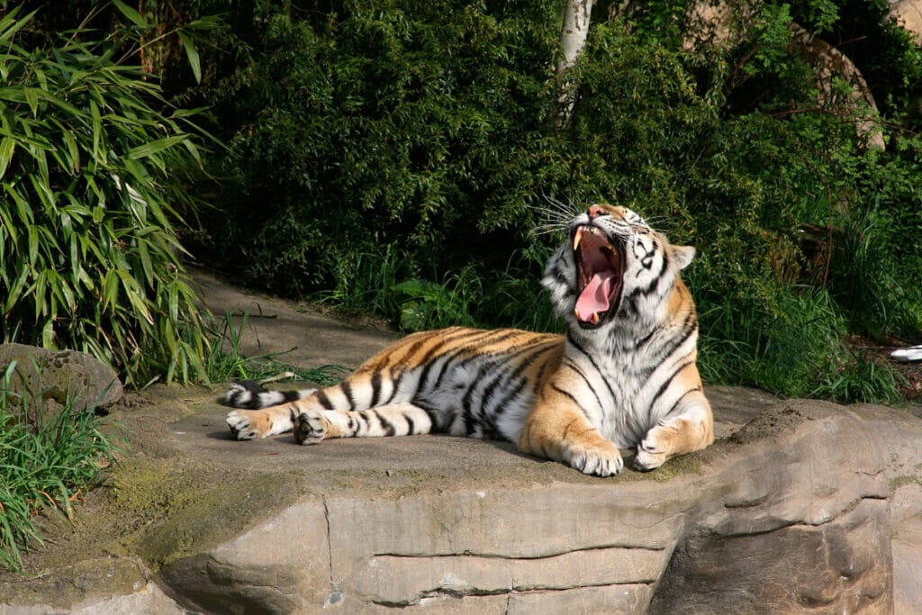
[[[584,474],[614,476],[624,467],[621,452],[562,392],[545,391],[519,432],[522,453],[561,461]]]

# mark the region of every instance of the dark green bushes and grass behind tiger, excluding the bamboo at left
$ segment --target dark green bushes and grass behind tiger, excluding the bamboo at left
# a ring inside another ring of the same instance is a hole
[[[844,339],[922,335],[922,81],[885,3],[859,4],[755,5],[732,44],[701,48],[683,44],[689,3],[597,11],[566,75],[559,3],[260,5],[252,56],[207,89],[231,153],[205,247],[251,283],[408,329],[555,328],[537,280],[562,238],[529,232],[560,219],[544,195],[619,203],[698,248],[709,380],[891,398],[892,373]],[[866,108],[818,104],[795,21],[874,39],[856,61],[886,150],[856,131]],[[577,97],[556,129],[563,79]]]

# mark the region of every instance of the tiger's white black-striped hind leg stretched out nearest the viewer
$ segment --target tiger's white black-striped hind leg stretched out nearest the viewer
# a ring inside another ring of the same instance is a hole
[[[432,431],[426,410],[408,402],[368,410],[316,410],[301,412],[294,419],[298,444],[317,444],[327,438],[373,438],[417,435]]]

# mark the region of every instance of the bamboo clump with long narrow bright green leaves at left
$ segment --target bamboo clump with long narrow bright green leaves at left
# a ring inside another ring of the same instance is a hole
[[[201,376],[174,226],[193,212],[193,113],[115,59],[131,30],[30,50],[17,38],[31,18],[0,17],[0,337],[89,352],[127,384]]]

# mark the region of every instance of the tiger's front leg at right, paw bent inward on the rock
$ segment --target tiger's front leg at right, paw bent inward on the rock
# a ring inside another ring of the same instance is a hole
[[[656,421],[637,444],[634,467],[652,470],[669,457],[699,451],[714,442],[714,416],[701,391],[686,393],[680,402],[680,408]]]

